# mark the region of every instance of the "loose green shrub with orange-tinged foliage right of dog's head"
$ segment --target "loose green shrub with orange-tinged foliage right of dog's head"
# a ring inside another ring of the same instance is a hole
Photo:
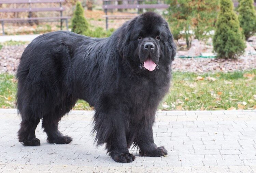
[[[217,16],[217,0],[167,0],[169,7],[164,14],[170,24],[174,39],[185,37],[191,42],[191,31],[201,40],[210,36]]]

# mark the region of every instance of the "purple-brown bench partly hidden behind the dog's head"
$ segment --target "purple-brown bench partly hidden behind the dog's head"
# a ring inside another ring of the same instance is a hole
[[[145,4],[145,2],[150,2],[151,4]],[[122,4],[120,4],[122,2]],[[130,2],[130,3],[129,3]],[[156,2],[156,3],[155,3]],[[112,3],[112,4],[111,4]],[[108,10],[113,9],[130,9],[130,8],[137,8],[138,13],[141,9],[160,9],[160,8],[168,8],[169,5],[161,3],[160,0],[103,0],[103,6],[105,15],[103,17],[106,18],[106,29],[108,30],[108,19],[120,19],[120,18],[131,18],[137,15],[108,15]]]

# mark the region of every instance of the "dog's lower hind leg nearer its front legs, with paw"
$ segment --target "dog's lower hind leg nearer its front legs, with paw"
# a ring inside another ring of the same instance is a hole
[[[69,136],[64,136],[58,130],[58,124],[62,116],[47,115],[43,117],[42,127],[47,134],[49,143],[65,144],[70,143],[73,139]]]

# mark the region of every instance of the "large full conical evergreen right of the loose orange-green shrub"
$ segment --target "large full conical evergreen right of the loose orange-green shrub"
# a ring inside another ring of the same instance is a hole
[[[218,58],[237,58],[244,52],[244,36],[231,0],[220,0],[213,47]]]

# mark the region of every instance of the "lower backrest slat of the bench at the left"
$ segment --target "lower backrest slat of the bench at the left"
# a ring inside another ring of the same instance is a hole
[[[64,11],[65,7],[53,8],[3,8],[0,12],[43,12],[43,11]]]

